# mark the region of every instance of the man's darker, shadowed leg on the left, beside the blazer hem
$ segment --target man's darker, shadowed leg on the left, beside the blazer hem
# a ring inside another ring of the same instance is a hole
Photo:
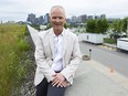
[[[36,96],[46,96],[47,86],[49,86],[49,83],[46,78],[43,78],[43,81],[36,86]]]

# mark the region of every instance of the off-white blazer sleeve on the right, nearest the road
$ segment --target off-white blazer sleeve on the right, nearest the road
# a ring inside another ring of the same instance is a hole
[[[82,58],[82,55],[79,51],[78,39],[75,35],[75,41],[74,41],[74,46],[73,46],[70,64],[67,64],[66,67],[61,72],[68,82],[73,79],[73,75],[81,62],[81,58]]]

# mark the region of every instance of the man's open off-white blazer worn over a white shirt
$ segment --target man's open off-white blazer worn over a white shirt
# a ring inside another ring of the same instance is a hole
[[[39,85],[44,77],[47,82],[53,81],[55,72],[51,68],[54,52],[53,29],[39,33],[35,45],[36,72],[34,85]],[[70,84],[73,84],[74,72],[81,62],[82,55],[76,34],[64,29],[63,36],[63,71],[61,72]]]

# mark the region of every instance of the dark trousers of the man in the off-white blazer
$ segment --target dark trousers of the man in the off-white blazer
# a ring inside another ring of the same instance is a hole
[[[46,78],[36,86],[36,96],[64,96],[64,93],[65,87],[53,86]]]

